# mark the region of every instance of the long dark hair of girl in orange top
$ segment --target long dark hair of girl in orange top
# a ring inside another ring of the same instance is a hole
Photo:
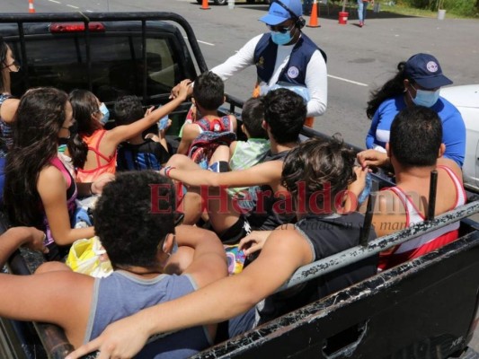
[[[68,101],[72,104],[73,117],[78,124],[78,133],[68,141],[68,152],[73,165],[83,169],[88,154],[88,144],[84,143],[83,136],[91,136],[94,131],[102,128],[102,124],[92,118],[93,113],[100,108],[95,95],[87,90],[70,92]]]

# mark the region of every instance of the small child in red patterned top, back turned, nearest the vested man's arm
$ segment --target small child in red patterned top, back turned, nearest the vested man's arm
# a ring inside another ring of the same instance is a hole
[[[218,115],[217,109],[225,102],[225,84],[212,72],[198,76],[192,101],[192,122],[182,127],[177,153],[188,154],[193,159],[201,157],[196,162],[206,157],[208,163],[217,145],[230,144],[235,140],[236,118],[233,115]],[[204,156],[199,153],[204,153]]]

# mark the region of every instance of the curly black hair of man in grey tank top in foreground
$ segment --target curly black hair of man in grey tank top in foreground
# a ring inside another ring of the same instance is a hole
[[[174,210],[172,180],[148,170],[118,173],[93,211],[95,233],[111,265],[157,266],[158,245],[174,233]]]

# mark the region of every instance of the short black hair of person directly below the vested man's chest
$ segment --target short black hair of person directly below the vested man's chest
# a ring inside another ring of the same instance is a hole
[[[296,92],[277,89],[262,97],[264,120],[278,144],[297,142],[306,119],[306,103]]]

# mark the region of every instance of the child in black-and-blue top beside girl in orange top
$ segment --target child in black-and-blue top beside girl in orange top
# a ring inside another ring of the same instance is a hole
[[[151,109],[146,111],[146,114]],[[115,102],[115,121],[118,126],[129,125],[143,118],[143,107],[137,96],[123,96]],[[164,129],[155,133],[157,140],[146,138],[145,132],[129,138],[120,144],[117,155],[117,171],[159,170],[168,162],[170,153],[164,138]],[[149,131],[147,129],[146,131]]]

